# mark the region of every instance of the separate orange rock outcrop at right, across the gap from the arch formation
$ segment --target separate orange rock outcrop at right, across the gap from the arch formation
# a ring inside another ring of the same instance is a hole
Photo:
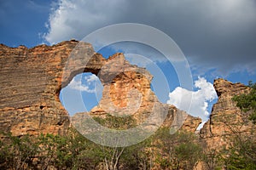
[[[242,112],[232,100],[235,95],[249,93],[250,88],[224,79],[215,80],[213,86],[218,94],[218,102],[213,105],[210,119],[201,128],[200,135],[209,150],[219,150],[229,143],[227,139],[230,136],[236,132],[247,133],[253,127],[248,113]]]

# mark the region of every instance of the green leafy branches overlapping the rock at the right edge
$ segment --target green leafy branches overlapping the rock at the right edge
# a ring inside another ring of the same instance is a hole
[[[252,111],[249,119],[256,123],[256,83],[249,82],[248,87],[251,88],[249,94],[235,96],[233,100],[236,101],[236,105],[241,111]]]

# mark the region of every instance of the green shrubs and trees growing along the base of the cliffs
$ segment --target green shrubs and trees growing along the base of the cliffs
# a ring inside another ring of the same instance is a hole
[[[249,82],[248,94],[233,99],[249,119],[256,124],[256,84]],[[232,116],[232,115],[231,115]],[[102,126],[127,129],[136,126],[131,116],[107,115],[94,118]],[[224,122],[228,118],[224,117]],[[230,118],[233,120],[233,118]],[[3,133],[0,140],[0,169],[193,169],[196,162],[204,161],[209,169],[256,169],[255,128],[244,133],[239,126],[229,126],[228,145],[223,150],[203,150],[203,144],[194,133],[169,133],[161,127],[154,135],[129,147],[107,147],[85,139],[73,128],[67,135],[41,134],[37,137],[12,136]],[[234,122],[235,123],[235,122]],[[237,123],[237,122],[236,122]]]

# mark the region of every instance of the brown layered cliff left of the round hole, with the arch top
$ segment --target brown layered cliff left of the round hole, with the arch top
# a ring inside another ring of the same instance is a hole
[[[54,46],[9,48],[0,45],[0,131],[14,135],[26,133],[65,133],[69,126],[67,111],[61,105],[59,93],[75,74],[99,71],[101,55],[92,46],[81,43],[86,53],[76,61],[67,59],[79,42],[61,42]],[[95,55],[94,55],[95,54]],[[91,57],[93,56],[93,57]],[[90,58],[90,62],[86,59]],[[84,62],[88,62],[84,68]],[[63,70],[65,65],[75,70]]]

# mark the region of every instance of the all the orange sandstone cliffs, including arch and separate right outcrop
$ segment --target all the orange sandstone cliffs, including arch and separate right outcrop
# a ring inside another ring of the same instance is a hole
[[[147,70],[131,65],[124,54],[104,59],[89,43],[67,41],[35,48],[0,44],[0,65],[0,132],[15,136],[66,133],[71,124],[59,94],[81,72],[96,74],[104,87],[102,99],[90,116],[128,115],[137,124],[149,118],[148,127],[159,125],[162,116],[166,116],[161,126],[170,127],[171,133],[180,128],[195,132],[201,122],[173,105],[161,104],[150,88],[153,77]],[[235,95],[247,94],[250,88],[224,79],[215,80],[214,88],[218,102],[199,133],[207,151],[221,150],[236,132],[247,134],[255,129],[247,119],[248,113],[232,100]],[[152,113],[154,116],[150,116]],[[75,114],[73,120],[79,122],[83,116],[84,113]],[[204,162],[197,167],[207,169]]]

